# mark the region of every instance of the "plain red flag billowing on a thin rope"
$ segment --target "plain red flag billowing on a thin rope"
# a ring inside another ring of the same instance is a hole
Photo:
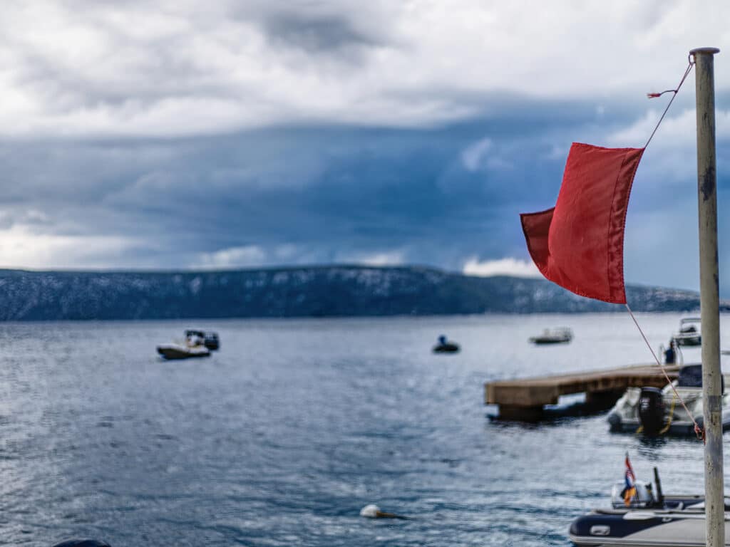
[[[574,142],[553,209],[520,215],[532,260],[551,282],[625,304],[623,228],[643,148]]]

